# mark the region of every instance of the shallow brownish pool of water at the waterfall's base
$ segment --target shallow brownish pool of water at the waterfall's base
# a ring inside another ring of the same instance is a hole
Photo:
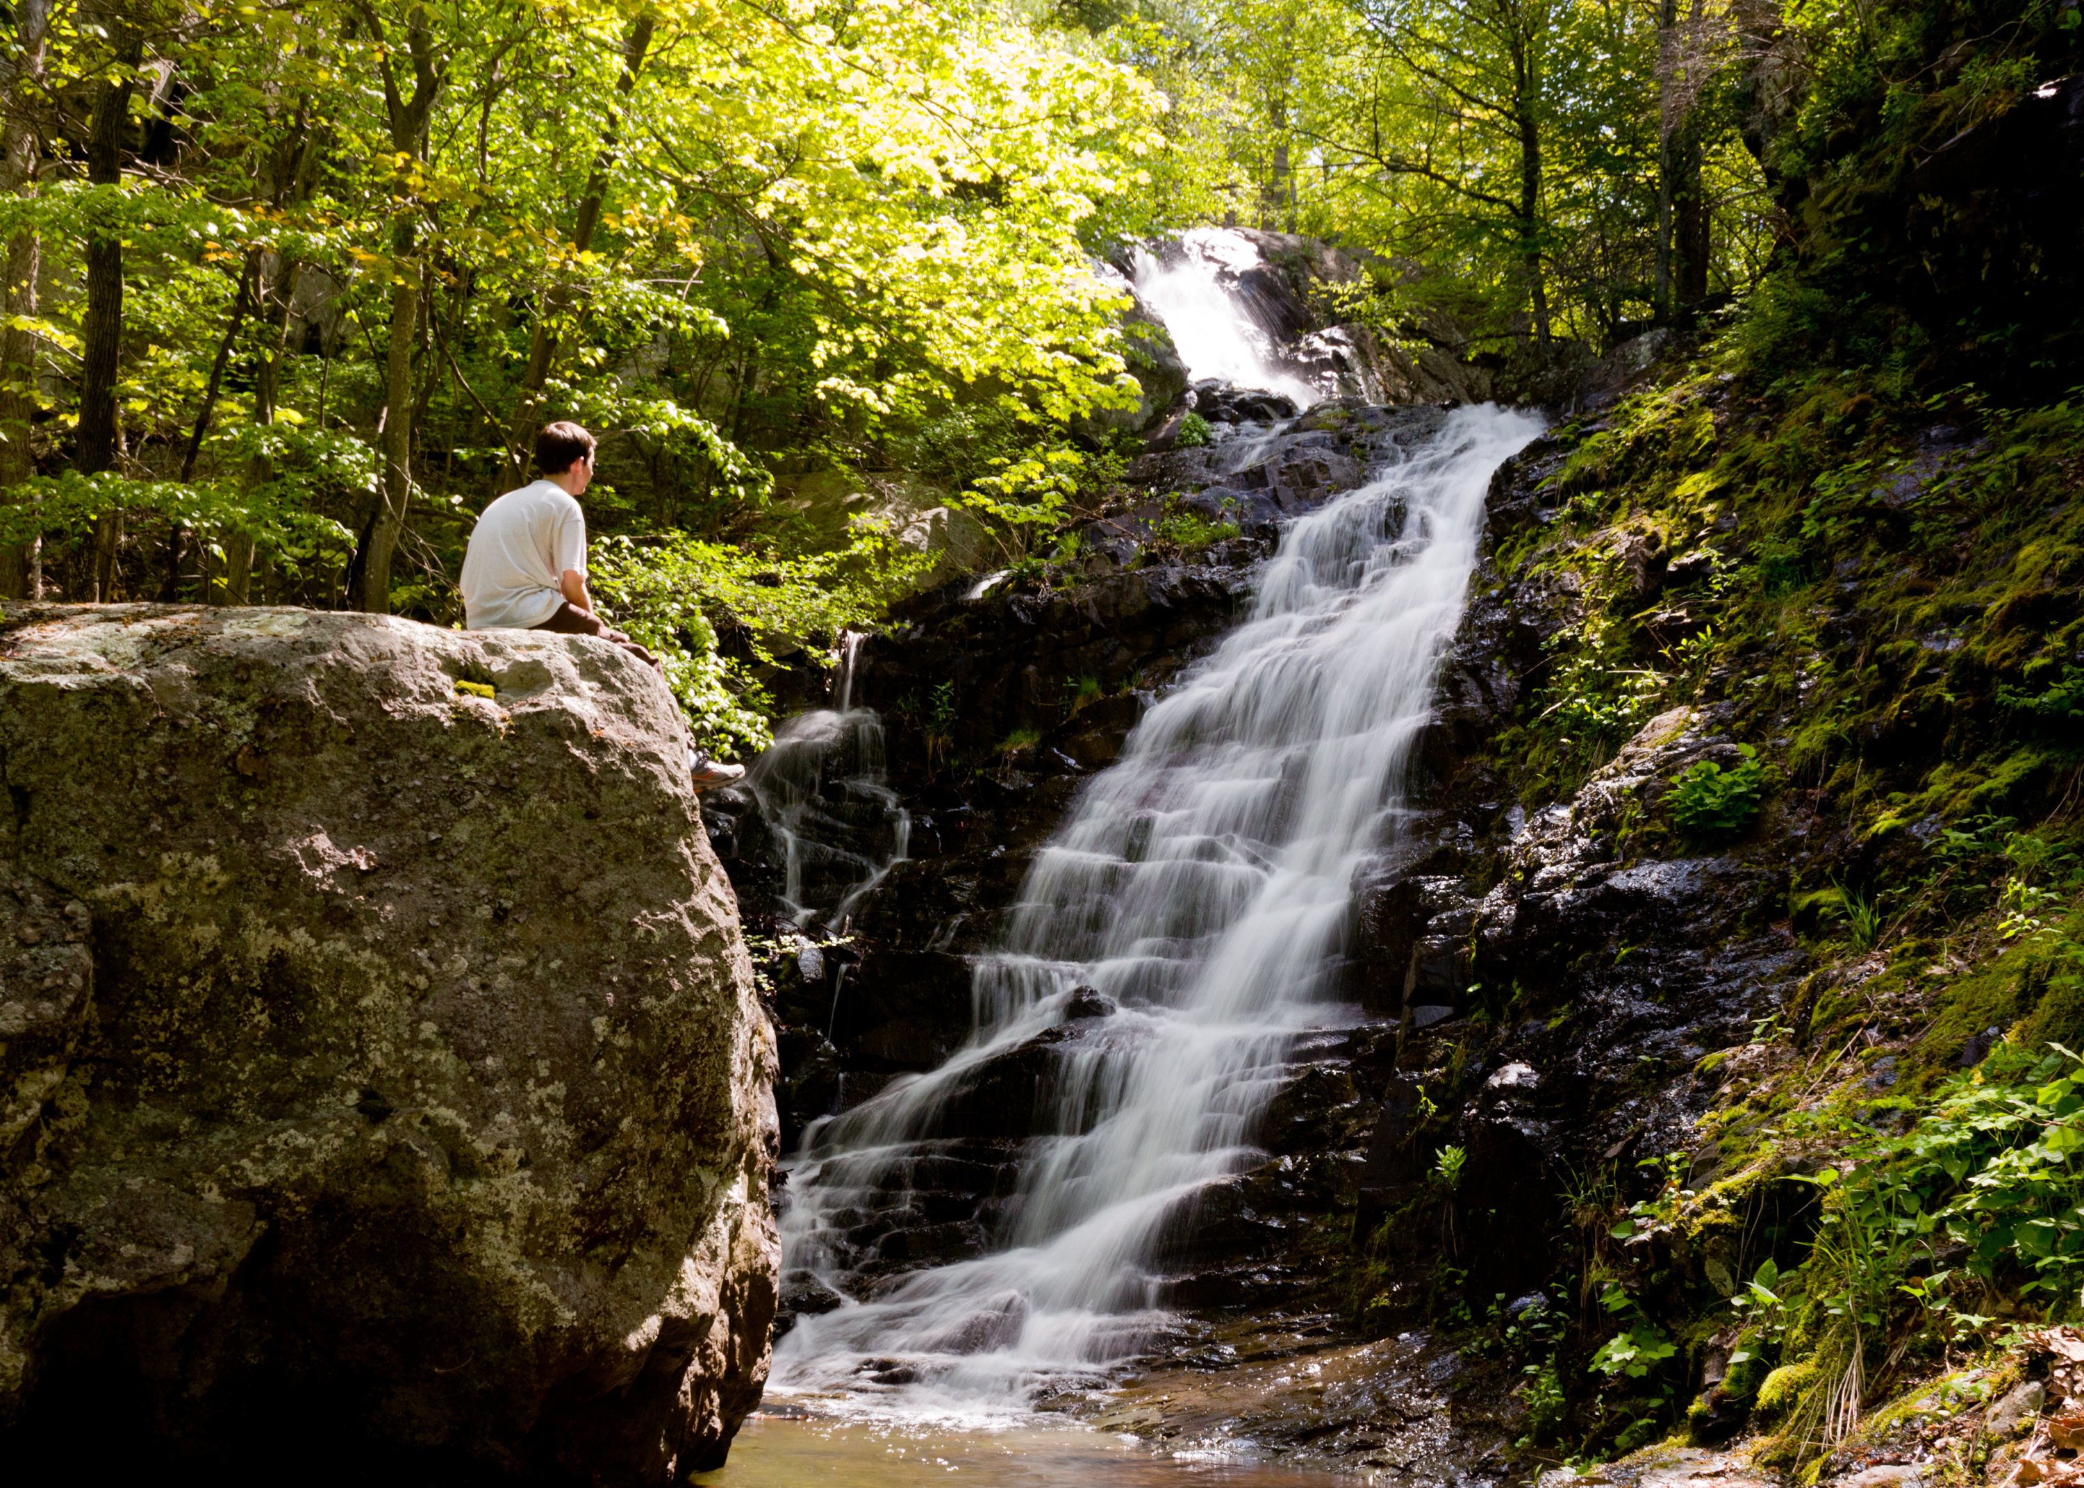
[[[1221,1450],[1152,1446],[1084,1425],[963,1428],[761,1413],[731,1459],[692,1482],[715,1488],[1359,1488],[1375,1473],[1321,1473]],[[1386,1480],[1386,1478],[1384,1478]]]

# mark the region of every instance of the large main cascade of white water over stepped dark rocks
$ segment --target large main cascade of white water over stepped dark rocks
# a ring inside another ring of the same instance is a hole
[[[1353,873],[1400,832],[1484,492],[1538,429],[1461,408],[1286,529],[1250,619],[1150,709],[1038,854],[1004,950],[975,969],[971,1042],[813,1127],[790,1163],[786,1263],[840,1282],[844,1232],[902,1186],[944,1102],[1098,988],[1115,1011],[1061,1046],[1050,1134],[1002,1248],[798,1319],[777,1390],[1017,1405],[1163,1325],[1167,1225],[1250,1161],[1296,1036],[1350,1017],[1332,979]]]

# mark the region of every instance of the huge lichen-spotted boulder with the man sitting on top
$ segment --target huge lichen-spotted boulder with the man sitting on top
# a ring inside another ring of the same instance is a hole
[[[8,604],[0,773],[0,1450],[723,1459],[773,1036],[648,667]]]

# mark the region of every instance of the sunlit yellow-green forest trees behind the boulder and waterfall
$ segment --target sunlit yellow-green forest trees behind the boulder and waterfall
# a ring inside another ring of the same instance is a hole
[[[1369,265],[1348,313],[1538,386],[1746,302],[1817,235],[1790,181],[2001,113],[2076,21],[19,0],[0,596],[456,623],[475,513],[569,417],[602,436],[604,596],[698,731],[756,748],[775,656],[940,571],[921,506],[1013,559],[1105,500],[1138,402],[1125,244],[1338,242]]]

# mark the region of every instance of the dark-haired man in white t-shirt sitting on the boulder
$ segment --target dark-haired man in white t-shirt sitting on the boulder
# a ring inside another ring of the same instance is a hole
[[[646,665],[646,646],[611,629],[586,592],[586,513],[579,496],[594,479],[594,436],[577,423],[546,423],[536,436],[542,475],[486,506],[463,554],[463,615],[469,629],[550,629],[598,636]],[[717,765],[690,748],[696,790],[727,786],[740,765]]]

